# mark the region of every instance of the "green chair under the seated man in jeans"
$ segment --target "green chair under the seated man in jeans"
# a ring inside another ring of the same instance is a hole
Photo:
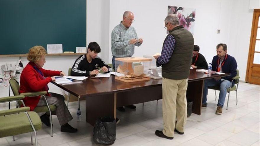
[[[232,81],[231,81],[231,85],[230,87],[227,89],[227,92],[228,92],[228,101],[229,101],[229,94],[230,94],[230,91],[236,91],[236,105],[238,105],[238,94],[237,94],[237,91],[238,91],[238,83],[239,83],[239,70],[237,69],[237,75],[232,78]],[[235,85],[233,87],[232,86],[232,83],[235,82]],[[209,89],[213,89],[215,90],[215,100],[217,100],[217,94],[216,94],[216,90],[220,91],[220,86],[212,86],[212,87],[208,87]],[[228,103],[227,103],[227,110],[228,110]]]

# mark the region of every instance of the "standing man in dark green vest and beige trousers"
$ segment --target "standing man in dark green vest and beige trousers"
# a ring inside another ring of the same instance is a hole
[[[156,130],[155,134],[173,139],[174,131],[184,134],[187,118],[186,90],[194,38],[188,30],[179,25],[179,18],[176,14],[169,14],[164,22],[169,35],[163,42],[161,55],[154,56],[157,60],[157,67],[162,65],[164,129],[163,131]]]

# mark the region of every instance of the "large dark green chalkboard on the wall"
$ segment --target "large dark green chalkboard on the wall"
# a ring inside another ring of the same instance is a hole
[[[86,0],[0,0],[0,55],[47,44],[86,46]]]

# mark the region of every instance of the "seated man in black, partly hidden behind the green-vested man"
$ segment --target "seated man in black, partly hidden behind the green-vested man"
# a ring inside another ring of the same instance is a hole
[[[199,53],[199,46],[194,45],[191,67],[194,69],[208,69],[208,63],[204,56]]]

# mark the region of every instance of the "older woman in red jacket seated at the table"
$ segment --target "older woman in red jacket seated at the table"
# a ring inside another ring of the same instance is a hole
[[[56,105],[56,114],[61,125],[61,132],[77,132],[77,129],[71,127],[68,122],[73,119],[64,102],[64,96],[57,93],[48,93],[48,83],[55,81],[53,76],[65,75],[62,71],[53,71],[43,69],[45,61],[46,50],[42,46],[34,46],[30,48],[27,53],[27,60],[30,62],[22,71],[20,78],[19,93],[47,91],[46,99],[48,104]],[[30,106],[31,111],[36,106],[45,106],[45,99],[42,96],[25,97],[23,99],[26,106]],[[51,126],[49,115],[46,113],[41,117],[42,122]]]

